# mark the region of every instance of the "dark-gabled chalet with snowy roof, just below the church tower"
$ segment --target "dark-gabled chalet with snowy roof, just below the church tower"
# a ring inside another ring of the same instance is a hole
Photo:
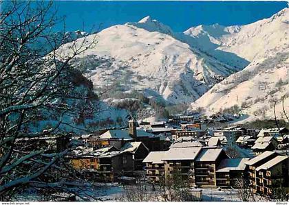
[[[144,167],[142,160],[149,154],[149,149],[142,142],[125,143],[120,148],[121,152],[131,152],[133,154],[133,168],[134,170],[142,170]]]

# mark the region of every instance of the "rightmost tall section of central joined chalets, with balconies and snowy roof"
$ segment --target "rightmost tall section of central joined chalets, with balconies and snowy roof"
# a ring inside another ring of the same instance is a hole
[[[216,169],[220,162],[228,158],[223,149],[204,147],[195,158],[195,184],[197,186],[217,186]]]

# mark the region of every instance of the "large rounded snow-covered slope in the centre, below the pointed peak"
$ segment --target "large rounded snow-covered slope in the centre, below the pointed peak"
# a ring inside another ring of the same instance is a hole
[[[174,34],[149,16],[90,35],[87,43],[95,35],[96,47],[82,53],[74,65],[85,69],[96,89],[114,84],[114,90],[121,92],[137,90],[173,104],[191,103],[224,77],[244,68],[244,64],[237,66],[236,60],[217,60],[184,40],[184,34]],[[69,46],[61,47],[65,55]],[[232,59],[240,59],[234,56]]]

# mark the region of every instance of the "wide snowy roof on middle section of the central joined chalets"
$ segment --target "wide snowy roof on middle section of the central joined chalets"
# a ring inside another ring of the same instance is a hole
[[[162,160],[194,160],[202,147],[171,148]]]

